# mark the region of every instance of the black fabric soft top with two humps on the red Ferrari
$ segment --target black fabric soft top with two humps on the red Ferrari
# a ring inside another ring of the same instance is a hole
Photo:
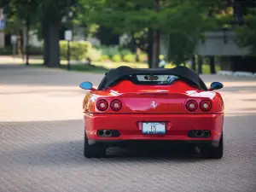
[[[194,70],[189,69],[188,67],[178,66],[170,69],[166,68],[131,68],[131,67],[118,67],[111,69],[106,73],[105,77],[102,79],[101,84],[98,86],[98,90],[107,89],[113,84],[119,83],[124,77],[129,75],[136,74],[165,74],[165,75],[176,75],[183,81],[195,85],[200,90],[208,90],[206,84],[202,81],[197,73]]]

